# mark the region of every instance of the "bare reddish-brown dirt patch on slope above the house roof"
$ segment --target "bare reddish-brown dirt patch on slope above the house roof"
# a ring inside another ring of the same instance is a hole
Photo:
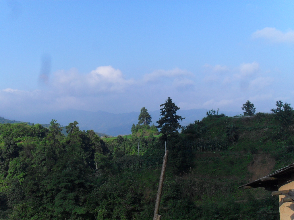
[[[250,181],[257,180],[273,172],[275,159],[268,154],[254,154],[253,161],[248,166],[248,171],[252,173]]]

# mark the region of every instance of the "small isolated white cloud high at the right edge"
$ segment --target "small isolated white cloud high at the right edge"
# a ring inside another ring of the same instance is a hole
[[[276,43],[294,43],[294,31],[290,30],[283,33],[275,28],[263,28],[262,30],[255,31],[252,38],[264,38],[270,42]]]

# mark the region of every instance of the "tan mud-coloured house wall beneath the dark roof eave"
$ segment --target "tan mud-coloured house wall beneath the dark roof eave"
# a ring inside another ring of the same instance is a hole
[[[280,190],[294,189],[294,181],[289,180],[279,184]],[[282,202],[282,198],[286,196],[279,195],[279,205],[280,205],[280,220],[293,220],[294,219],[294,202]]]

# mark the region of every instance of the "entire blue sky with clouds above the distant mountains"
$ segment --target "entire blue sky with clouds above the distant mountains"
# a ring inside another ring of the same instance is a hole
[[[0,1],[0,116],[294,104],[293,1]]]

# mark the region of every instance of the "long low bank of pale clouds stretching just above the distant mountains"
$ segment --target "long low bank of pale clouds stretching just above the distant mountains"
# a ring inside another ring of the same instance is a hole
[[[66,109],[123,113],[142,106],[152,111],[167,97],[182,109],[241,111],[246,100],[256,107],[258,103],[266,106],[265,102],[272,107],[282,95],[277,92],[279,86],[275,72],[264,71],[258,62],[236,67],[205,64],[200,74],[179,68],[155,70],[139,79],[128,79],[112,66],[97,67],[87,74],[72,68],[53,73],[42,89],[2,89],[0,116],[18,119],[20,115]]]

